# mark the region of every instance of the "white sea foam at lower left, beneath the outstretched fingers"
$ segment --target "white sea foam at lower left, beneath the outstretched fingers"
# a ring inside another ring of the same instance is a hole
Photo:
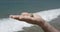
[[[0,32],[13,32],[22,31],[23,27],[31,27],[32,24],[28,24],[23,21],[18,21],[11,18],[4,18],[0,20]]]

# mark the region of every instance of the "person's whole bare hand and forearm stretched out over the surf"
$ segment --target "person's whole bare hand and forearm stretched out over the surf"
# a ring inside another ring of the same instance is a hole
[[[10,15],[10,18],[39,25],[44,30],[44,32],[60,32],[49,23],[47,23],[44,19],[42,19],[41,16],[36,14],[32,15],[31,13],[23,12],[21,15]]]

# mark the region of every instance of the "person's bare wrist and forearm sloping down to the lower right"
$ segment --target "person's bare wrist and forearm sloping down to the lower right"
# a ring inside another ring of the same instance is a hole
[[[42,21],[41,24],[37,23],[45,32],[59,32],[57,29],[55,29],[53,26],[51,26],[46,21]]]

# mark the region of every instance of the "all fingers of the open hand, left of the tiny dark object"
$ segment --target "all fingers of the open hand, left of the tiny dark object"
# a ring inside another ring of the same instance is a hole
[[[33,16],[32,14],[24,12],[21,15],[10,15],[9,17],[21,21],[27,21],[27,20],[34,20],[32,16]]]

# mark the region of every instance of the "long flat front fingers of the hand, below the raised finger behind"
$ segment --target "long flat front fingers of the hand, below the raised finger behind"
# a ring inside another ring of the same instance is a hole
[[[23,15],[10,15],[10,18],[17,19],[20,21],[30,21],[33,20],[30,16],[23,16]]]

